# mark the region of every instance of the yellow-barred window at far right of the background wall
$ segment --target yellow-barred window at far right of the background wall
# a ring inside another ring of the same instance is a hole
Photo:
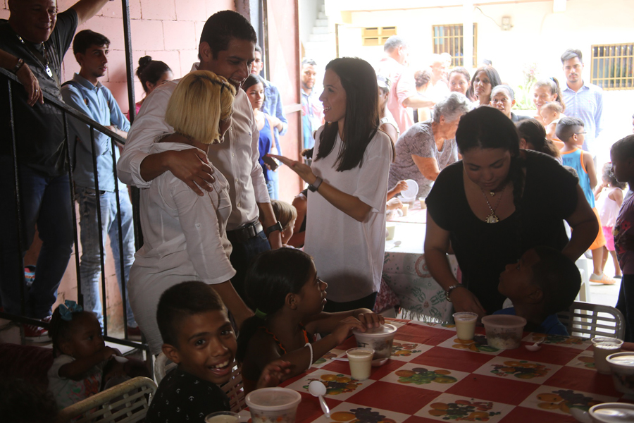
[[[634,90],[634,43],[592,46],[590,75],[604,90]]]

